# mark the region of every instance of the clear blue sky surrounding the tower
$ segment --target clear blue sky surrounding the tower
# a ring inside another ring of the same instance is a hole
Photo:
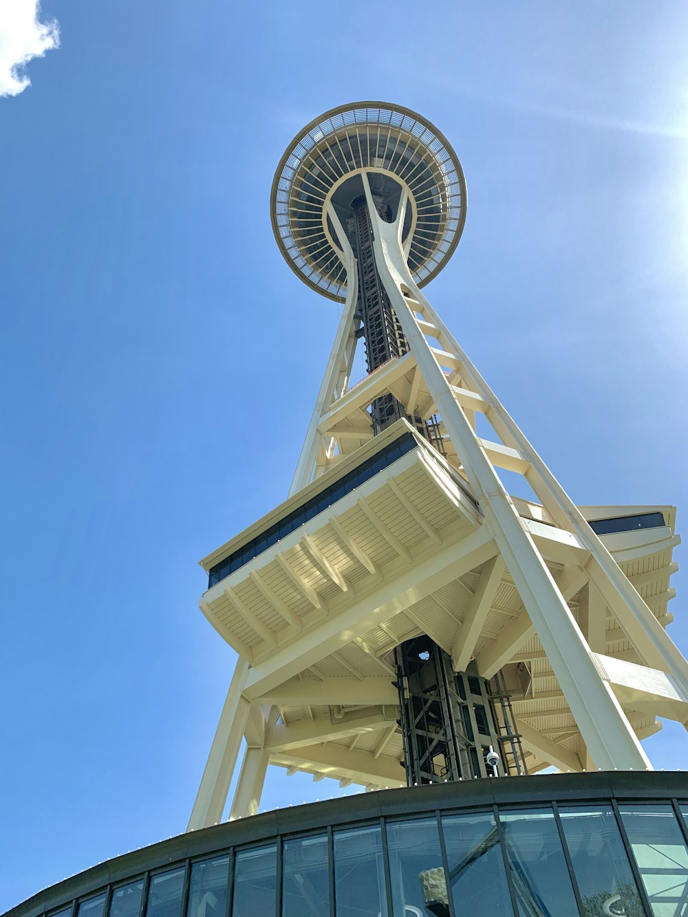
[[[457,150],[427,293],[573,499],[688,505],[688,7],[42,15],[61,48],[0,99],[0,910],[185,826],[234,658],[196,561],[283,500],[338,318],[268,212],[327,108],[405,105]],[[685,765],[677,725],[647,746]],[[271,768],[263,800],[335,791]]]

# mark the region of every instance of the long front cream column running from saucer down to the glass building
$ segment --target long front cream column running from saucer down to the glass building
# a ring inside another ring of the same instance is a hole
[[[461,457],[473,495],[481,504],[488,525],[494,530],[506,567],[527,608],[585,742],[602,768],[649,768],[648,757],[614,694],[595,668],[571,610],[532,537],[522,524],[482,443],[475,436],[466,414],[451,392],[449,381],[406,300],[404,289],[419,304],[427,304],[408,270],[401,245],[406,194],[402,193],[396,221],[385,223],[373,204],[365,173],[362,179],[372,220],[375,260],[380,277],[409,347],[416,357],[418,368],[423,373],[428,392]],[[451,340],[450,337],[445,338]],[[506,445],[511,446],[512,443]]]

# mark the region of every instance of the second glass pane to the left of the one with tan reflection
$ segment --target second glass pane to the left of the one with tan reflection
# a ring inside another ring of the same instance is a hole
[[[282,882],[283,917],[329,917],[326,834],[284,842]]]

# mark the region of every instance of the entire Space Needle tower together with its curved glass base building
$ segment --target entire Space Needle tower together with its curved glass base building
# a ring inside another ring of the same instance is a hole
[[[427,119],[316,117],[271,218],[341,318],[285,501],[201,561],[238,659],[187,831],[10,913],[688,914],[688,780],[642,745],[688,721],[674,508],[573,503],[428,301],[466,183]],[[270,766],[361,792],[260,812]]]

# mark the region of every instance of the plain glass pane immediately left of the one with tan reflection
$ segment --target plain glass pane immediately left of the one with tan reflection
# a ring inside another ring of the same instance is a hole
[[[387,917],[379,825],[335,832],[336,917]]]

